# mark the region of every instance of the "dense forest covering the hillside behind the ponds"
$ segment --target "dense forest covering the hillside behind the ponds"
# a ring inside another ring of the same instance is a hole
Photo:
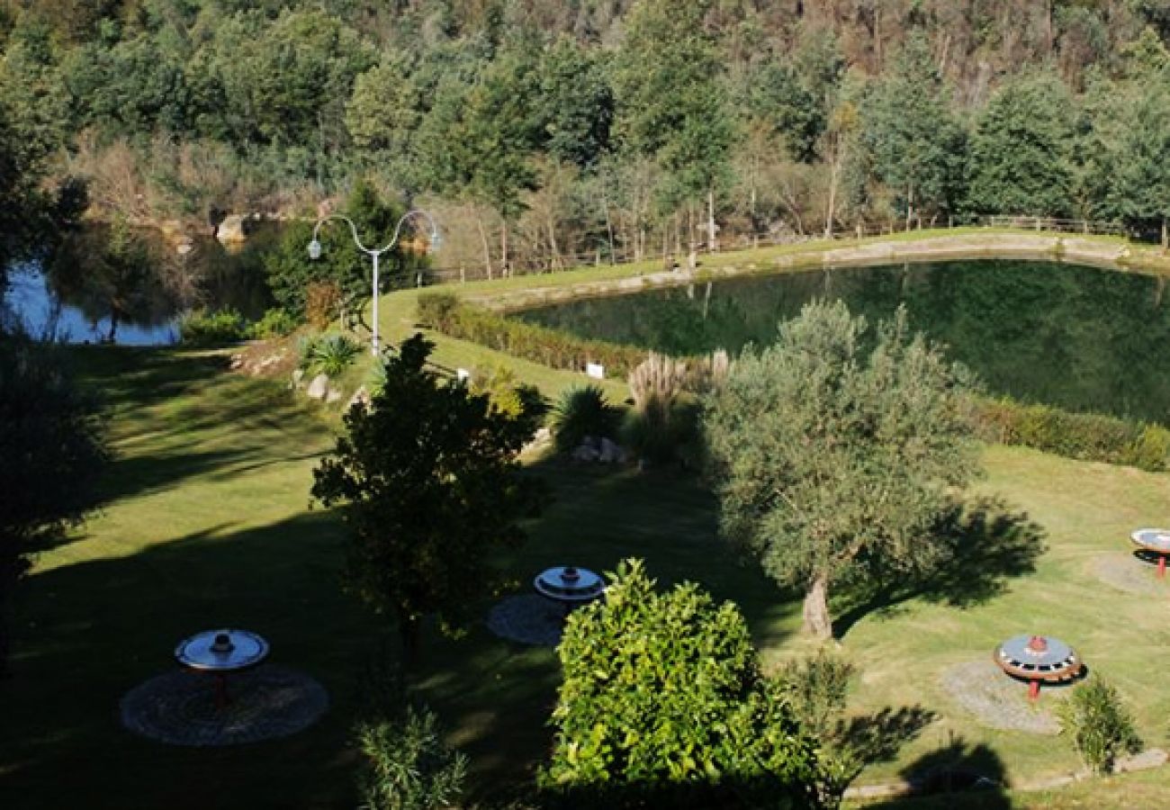
[[[191,231],[366,179],[496,269],[989,213],[1165,240],[1168,41],[1170,0],[0,0],[0,192]]]

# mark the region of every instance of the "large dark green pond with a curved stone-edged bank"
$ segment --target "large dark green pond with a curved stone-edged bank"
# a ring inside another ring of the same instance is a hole
[[[517,314],[673,355],[771,343],[814,298],[870,323],[904,303],[910,324],[992,393],[1170,423],[1165,280],[1076,265],[980,260],[817,270],[580,300]]]

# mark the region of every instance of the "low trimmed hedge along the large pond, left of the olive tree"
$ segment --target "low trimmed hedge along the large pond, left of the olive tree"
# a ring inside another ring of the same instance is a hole
[[[523,357],[553,369],[584,371],[587,363],[605,366],[607,377],[624,378],[649,352],[638,346],[591,341],[569,332],[510,318],[461,303],[450,293],[424,293],[418,303],[419,322],[449,337]]]

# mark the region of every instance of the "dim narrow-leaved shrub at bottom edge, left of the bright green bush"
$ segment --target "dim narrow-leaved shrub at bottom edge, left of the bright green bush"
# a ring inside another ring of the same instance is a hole
[[[443,744],[431,711],[407,708],[401,720],[362,723],[357,736],[364,810],[447,808],[462,794],[467,757]]]

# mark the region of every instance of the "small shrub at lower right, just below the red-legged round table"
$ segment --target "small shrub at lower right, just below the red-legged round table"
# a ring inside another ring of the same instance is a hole
[[[1100,677],[1078,686],[1059,714],[1061,734],[1072,737],[1081,760],[1096,774],[1108,774],[1119,754],[1136,753],[1142,746],[1117,689]]]

